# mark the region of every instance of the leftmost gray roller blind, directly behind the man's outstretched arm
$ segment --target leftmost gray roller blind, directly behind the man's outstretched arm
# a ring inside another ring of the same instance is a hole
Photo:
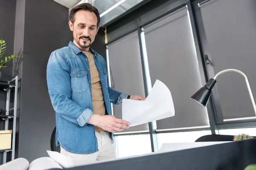
[[[138,32],[108,47],[111,87],[130,95],[145,96]],[[113,114],[122,119],[122,105],[113,105]],[[148,124],[130,127],[122,132],[148,130]]]

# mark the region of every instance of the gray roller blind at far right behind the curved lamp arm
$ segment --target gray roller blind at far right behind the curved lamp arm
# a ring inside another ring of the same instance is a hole
[[[227,68],[243,71],[256,95],[256,1],[210,0],[201,5],[214,74]],[[212,75],[213,76],[213,75]],[[224,119],[255,116],[250,96],[239,73],[228,72],[217,79]]]

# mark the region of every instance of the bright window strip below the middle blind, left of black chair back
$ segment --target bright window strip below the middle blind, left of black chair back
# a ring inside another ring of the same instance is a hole
[[[158,133],[158,148],[160,149],[163,143],[180,143],[180,142],[195,142],[201,136],[210,135],[210,130],[192,131],[192,132],[175,132],[175,133]]]

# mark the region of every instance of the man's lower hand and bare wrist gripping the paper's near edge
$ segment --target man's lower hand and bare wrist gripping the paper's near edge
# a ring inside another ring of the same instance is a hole
[[[87,123],[98,126],[108,132],[121,132],[124,129],[128,129],[129,125],[131,125],[131,123],[117,119],[112,115],[100,116],[97,114],[93,114]]]

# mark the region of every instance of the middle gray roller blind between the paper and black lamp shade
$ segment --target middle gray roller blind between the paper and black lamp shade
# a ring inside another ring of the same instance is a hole
[[[165,83],[175,107],[175,116],[158,120],[157,129],[209,126],[207,109],[190,99],[202,83],[187,9],[152,23],[144,31],[151,84],[156,79]]]

